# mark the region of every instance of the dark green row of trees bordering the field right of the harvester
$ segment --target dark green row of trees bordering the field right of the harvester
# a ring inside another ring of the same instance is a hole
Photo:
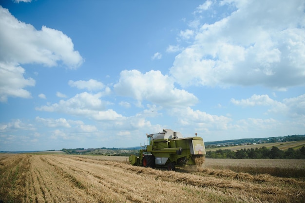
[[[218,149],[216,151],[207,151],[206,158],[220,159],[305,159],[305,147],[294,150],[288,148],[283,151],[275,146],[271,149],[248,148],[232,151],[229,149]]]

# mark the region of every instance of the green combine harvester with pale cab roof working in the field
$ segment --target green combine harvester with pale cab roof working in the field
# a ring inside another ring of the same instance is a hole
[[[206,155],[203,139],[197,137],[183,138],[180,132],[163,129],[163,132],[147,134],[148,145],[139,151],[139,157],[131,155],[129,163],[134,166],[167,167],[202,165]]]

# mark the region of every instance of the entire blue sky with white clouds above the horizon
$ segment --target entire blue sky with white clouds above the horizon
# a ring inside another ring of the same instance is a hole
[[[0,151],[305,134],[304,0],[0,0]]]

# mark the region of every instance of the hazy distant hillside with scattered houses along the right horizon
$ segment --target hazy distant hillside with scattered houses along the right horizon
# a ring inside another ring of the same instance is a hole
[[[268,137],[268,138],[245,138],[238,140],[223,140],[214,142],[205,142],[206,148],[215,148],[217,146],[232,146],[244,145],[253,143],[276,143],[276,142],[291,142],[305,140],[305,135],[287,135],[282,137]]]

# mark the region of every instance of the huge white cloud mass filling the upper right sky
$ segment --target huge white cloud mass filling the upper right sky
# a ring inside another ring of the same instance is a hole
[[[285,89],[305,84],[303,0],[206,1],[235,7],[227,17],[193,26],[195,40],[176,56],[170,73],[182,86],[264,85]],[[218,9],[219,10],[219,9]],[[228,9],[227,9],[228,10]],[[209,18],[200,13],[200,18]],[[198,28],[198,29],[195,29]],[[190,36],[183,31],[186,37]]]

